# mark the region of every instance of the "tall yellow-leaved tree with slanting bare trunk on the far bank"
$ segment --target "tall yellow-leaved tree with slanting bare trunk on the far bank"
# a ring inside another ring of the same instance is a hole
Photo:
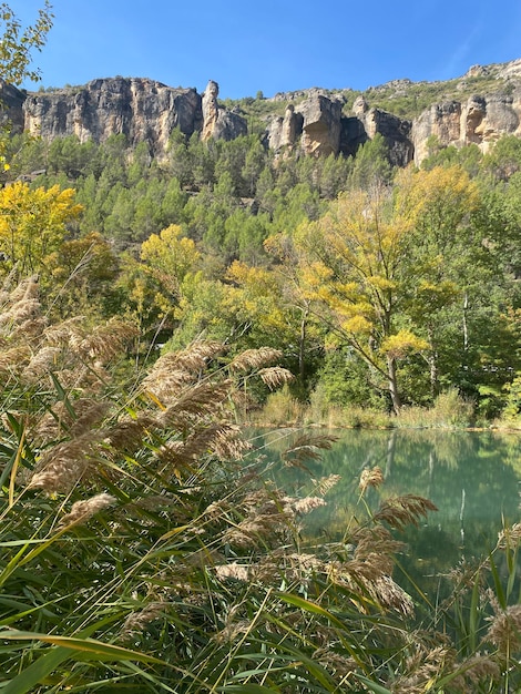
[[[401,407],[397,363],[427,343],[400,325],[402,269],[413,223],[381,187],[340,196],[317,223],[299,227],[309,294],[320,317],[380,378],[396,412]]]

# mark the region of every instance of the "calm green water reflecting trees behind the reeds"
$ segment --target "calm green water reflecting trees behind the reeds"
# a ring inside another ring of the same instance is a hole
[[[365,517],[358,501],[360,473],[375,466],[385,481],[366,494],[372,510],[384,499],[400,494],[425,497],[438,508],[418,528],[399,535],[407,550],[398,560],[422,588],[433,590],[439,576],[461,560],[483,557],[496,545],[503,521],[521,521],[521,435],[446,430],[331,433],[338,440],[319,460],[307,460],[307,469],[288,467],[280,457],[296,433],[257,432],[253,439],[253,456],[264,463],[273,461],[270,474],[288,493],[313,493],[313,479],[340,476],[325,497],[327,507],[306,518],[305,539],[348,535],[354,514]]]

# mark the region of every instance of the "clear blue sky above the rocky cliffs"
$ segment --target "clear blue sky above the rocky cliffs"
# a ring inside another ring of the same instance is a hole
[[[10,0],[32,23],[43,0]],[[448,80],[521,58],[521,0],[52,0],[43,86],[151,78],[219,96]],[[25,83],[27,89],[38,85]]]

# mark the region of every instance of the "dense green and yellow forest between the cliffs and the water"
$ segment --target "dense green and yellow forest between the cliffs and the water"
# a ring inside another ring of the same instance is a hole
[[[480,420],[515,415],[521,141],[429,144],[398,171],[379,135],[315,159],[174,132],[163,161],[124,135],[18,135],[0,272],[37,274],[54,317],[136,319],[149,355],[279,349],[300,400],[398,412],[454,389]]]

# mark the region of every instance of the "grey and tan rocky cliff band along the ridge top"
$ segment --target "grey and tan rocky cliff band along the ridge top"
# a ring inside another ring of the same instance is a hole
[[[392,105],[411,94],[417,99],[422,84],[427,91],[435,89],[438,99],[412,118],[394,114]],[[166,151],[175,127],[186,135],[200,132],[203,140],[246,134],[246,114],[238,108],[225,109],[217,96],[218,85],[213,81],[203,95],[195,89],[174,89],[147,79],[100,79],[84,86],[38,93],[0,81],[3,118],[12,122],[14,132],[27,130],[47,140],[76,135],[81,142],[104,142],[111,134],[123,133],[131,146],[146,141],[157,156]],[[382,96],[386,108],[378,105]],[[483,152],[503,134],[521,136],[521,59],[473,67],[447,83],[397,80],[370,88],[350,108],[345,92],[318,89],[265,101],[268,106],[268,102],[274,106],[286,102],[284,115],[268,112],[264,116],[265,142],[277,153],[350,155],[380,133],[391,162],[403,166],[412,160],[420,163],[433,136],[441,146],[474,143]]]

